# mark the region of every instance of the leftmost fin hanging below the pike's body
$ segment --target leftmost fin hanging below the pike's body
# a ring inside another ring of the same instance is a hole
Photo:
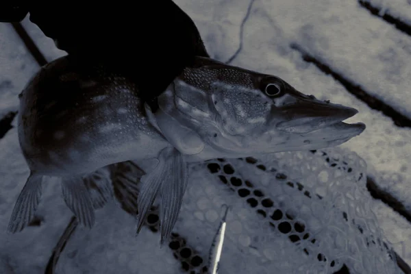
[[[42,194],[42,175],[30,173],[27,182],[18,195],[12,216],[8,225],[8,232],[21,232],[33,219]]]

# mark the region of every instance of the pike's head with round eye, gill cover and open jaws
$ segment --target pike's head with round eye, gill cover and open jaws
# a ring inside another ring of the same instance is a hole
[[[365,129],[363,123],[343,122],[358,113],[354,108],[210,58],[197,58],[158,97],[158,105],[164,136],[197,160],[334,147]]]

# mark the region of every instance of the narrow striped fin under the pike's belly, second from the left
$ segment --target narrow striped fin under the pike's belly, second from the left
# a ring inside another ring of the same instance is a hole
[[[84,179],[82,176],[62,179],[62,193],[66,205],[79,219],[84,227],[91,228],[95,224],[95,212]]]

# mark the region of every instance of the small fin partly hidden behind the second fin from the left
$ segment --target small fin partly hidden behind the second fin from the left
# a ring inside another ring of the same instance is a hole
[[[95,209],[103,208],[105,203],[113,197],[112,180],[110,170],[107,167],[97,169],[94,173],[86,175],[84,184]]]

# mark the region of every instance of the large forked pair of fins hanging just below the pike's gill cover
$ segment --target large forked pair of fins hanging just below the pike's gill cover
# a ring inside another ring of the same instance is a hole
[[[173,147],[163,149],[158,160],[157,166],[141,178],[137,233],[140,232],[149,209],[160,192],[160,245],[162,245],[170,236],[177,221],[188,182],[188,170],[182,154]]]

